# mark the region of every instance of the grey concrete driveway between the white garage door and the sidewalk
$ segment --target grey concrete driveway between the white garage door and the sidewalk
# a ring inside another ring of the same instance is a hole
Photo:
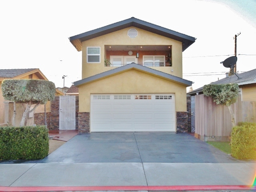
[[[230,155],[186,133],[78,134],[39,163],[236,163]]]

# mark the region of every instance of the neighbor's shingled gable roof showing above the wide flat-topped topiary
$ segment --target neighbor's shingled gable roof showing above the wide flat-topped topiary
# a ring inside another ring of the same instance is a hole
[[[38,68],[31,68],[31,69],[0,69],[0,79],[5,78],[22,78],[29,74],[35,73],[40,79],[48,80],[46,76],[38,69]]]

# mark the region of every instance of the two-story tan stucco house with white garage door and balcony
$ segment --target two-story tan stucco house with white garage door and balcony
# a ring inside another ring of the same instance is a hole
[[[187,130],[182,52],[196,38],[132,17],[69,39],[82,51],[79,132]]]

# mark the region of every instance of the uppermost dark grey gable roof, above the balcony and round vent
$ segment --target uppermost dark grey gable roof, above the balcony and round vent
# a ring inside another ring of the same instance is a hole
[[[191,44],[193,44],[196,38],[192,36],[188,36],[143,20],[139,20],[137,18],[131,17],[126,20],[122,20],[120,22],[116,22],[98,29],[94,29],[88,32],[84,32],[82,34],[78,34],[69,38],[70,42],[76,48],[76,50],[81,51],[82,46],[81,42],[96,38],[98,36],[102,36],[105,34],[109,34],[118,30],[122,30],[128,27],[137,27],[142,30],[146,30],[155,34],[159,34],[161,36],[165,36],[177,41],[182,42],[182,51],[186,50]]]

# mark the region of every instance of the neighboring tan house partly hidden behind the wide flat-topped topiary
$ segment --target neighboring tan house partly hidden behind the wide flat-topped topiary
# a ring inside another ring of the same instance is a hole
[[[42,79],[48,80],[38,69],[0,69],[0,125],[12,124],[13,102],[5,101],[2,95],[2,81],[4,79]],[[56,90],[56,95],[64,95]],[[24,104],[16,104],[16,126],[20,124],[22,114],[25,110]],[[50,112],[50,102],[46,104],[46,112]],[[44,113],[44,105],[39,105],[34,112],[28,115],[27,125],[34,124],[34,113]]]

